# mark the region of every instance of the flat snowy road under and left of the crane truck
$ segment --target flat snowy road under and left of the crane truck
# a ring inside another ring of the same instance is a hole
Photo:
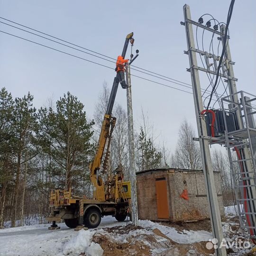
[[[126,225],[111,216],[102,218],[98,229]],[[61,229],[48,230],[49,224],[0,230],[0,256],[63,256],[63,245],[77,232],[59,224]]]

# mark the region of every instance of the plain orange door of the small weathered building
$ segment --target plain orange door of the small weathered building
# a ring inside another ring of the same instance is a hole
[[[169,207],[167,201],[166,180],[159,179],[155,181],[157,217],[160,219],[169,219]]]

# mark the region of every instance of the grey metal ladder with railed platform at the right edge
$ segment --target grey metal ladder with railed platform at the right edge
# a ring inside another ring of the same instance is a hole
[[[232,101],[238,95],[239,102]],[[238,91],[221,99],[225,123],[225,145],[229,154],[232,183],[238,207],[242,229],[247,229],[252,238],[256,238],[256,96],[245,91]],[[229,111],[241,113],[243,127],[227,131],[227,118],[224,103],[229,104]],[[235,154],[234,154],[235,152]]]

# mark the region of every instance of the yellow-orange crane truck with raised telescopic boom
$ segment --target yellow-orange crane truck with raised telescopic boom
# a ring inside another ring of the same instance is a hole
[[[129,42],[133,45],[133,33],[127,35],[122,51],[125,58]],[[109,156],[110,141],[116,118],[112,116],[112,109],[119,85],[119,78],[114,78],[107,110],[101,126],[101,133],[95,157],[90,164],[91,182],[93,184],[93,198],[75,196],[68,190],[56,189],[50,194],[51,214],[46,218],[52,221],[49,229],[59,229],[56,222],[64,220],[69,228],[83,226],[96,228],[101,223],[101,217],[114,216],[118,221],[127,217],[131,198],[130,182],[124,181],[122,166],[119,165],[106,182],[101,174],[106,173]],[[102,162],[103,155],[104,161]]]

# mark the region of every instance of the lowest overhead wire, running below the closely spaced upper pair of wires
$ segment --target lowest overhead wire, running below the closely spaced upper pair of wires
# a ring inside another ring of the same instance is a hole
[[[90,63],[97,64],[97,65],[100,65],[100,66],[103,66],[103,67],[106,67],[106,68],[109,68],[109,69],[114,70],[114,68],[111,68],[111,67],[109,67],[109,66],[106,66],[106,65],[103,65],[103,64],[99,64],[99,63],[97,63],[97,62],[93,62],[93,61],[91,61],[91,60],[82,58],[82,57],[77,56],[77,55],[69,54],[69,53],[67,53],[67,52],[64,52],[64,51],[55,49],[55,48],[53,48],[53,47],[50,47],[50,46],[46,46],[46,45],[37,43],[37,42],[35,42],[35,41],[29,40],[29,39],[26,39],[26,38],[23,38],[23,37],[16,36],[16,35],[10,34],[10,33],[8,33],[8,32],[2,31],[2,30],[0,30],[0,32],[1,32],[1,33],[4,33],[4,34],[7,34],[7,35],[9,35],[9,36],[12,36],[12,37],[17,37],[17,38],[19,38],[19,39],[25,40],[25,41],[27,41],[27,42],[30,42],[30,43],[33,43],[33,44],[36,44],[36,45],[39,45],[39,46],[46,47],[46,48],[48,48],[48,49],[51,49],[51,50],[54,50],[54,51],[57,51],[57,52],[60,52],[60,53],[66,54],[66,55],[70,55],[70,56],[73,56],[73,57],[75,57],[75,58],[82,59],[82,60],[84,60],[84,61],[88,61],[88,62],[90,62]],[[144,77],[140,77],[140,76],[137,76],[137,75],[134,75],[134,74],[131,74],[131,75],[134,76],[134,77],[137,77],[137,78],[140,78],[140,79],[149,81],[149,82],[154,82],[154,83],[156,83],[156,84],[163,85],[163,86],[165,86],[165,87],[169,87],[169,88],[178,90],[178,91],[183,91],[183,92],[186,92],[186,93],[189,93],[189,94],[193,94],[193,93],[190,92],[190,91],[184,91],[184,90],[181,90],[181,89],[179,89],[179,88],[176,88],[176,87],[173,87],[173,86],[164,84],[164,83],[156,82],[156,81],[153,81],[153,80],[150,80],[150,79],[147,79],[147,78],[144,78]]]

